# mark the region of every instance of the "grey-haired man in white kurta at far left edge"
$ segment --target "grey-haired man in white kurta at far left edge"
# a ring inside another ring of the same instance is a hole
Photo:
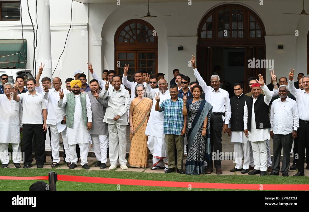
[[[13,147],[13,162],[15,168],[20,167],[20,131],[23,128],[23,110],[22,104],[13,100],[13,84],[6,83],[3,87],[4,94],[0,94],[0,160],[1,167],[6,168],[9,165],[8,144]]]

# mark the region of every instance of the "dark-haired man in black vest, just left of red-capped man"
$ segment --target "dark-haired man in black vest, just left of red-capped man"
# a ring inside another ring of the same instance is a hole
[[[234,143],[235,167],[231,172],[241,171],[242,174],[249,172],[250,164],[250,146],[248,138],[243,132],[243,109],[246,100],[250,101],[250,97],[243,93],[241,83],[234,84],[235,96],[231,97],[231,119],[228,125],[228,135],[231,142]],[[243,160],[244,157],[244,160]],[[242,164],[243,160],[243,164]]]

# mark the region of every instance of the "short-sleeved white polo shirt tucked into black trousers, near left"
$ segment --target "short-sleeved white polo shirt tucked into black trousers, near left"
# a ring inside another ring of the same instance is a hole
[[[46,109],[43,96],[37,91],[34,95],[27,91],[18,96],[23,105],[23,124],[43,124],[42,110]]]

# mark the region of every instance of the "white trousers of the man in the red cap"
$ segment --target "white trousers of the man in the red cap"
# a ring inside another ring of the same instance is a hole
[[[254,169],[266,171],[267,170],[267,140],[251,142]]]

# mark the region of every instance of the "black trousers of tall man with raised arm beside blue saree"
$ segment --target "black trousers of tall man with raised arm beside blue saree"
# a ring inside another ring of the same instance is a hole
[[[214,168],[221,169],[221,161],[217,160],[220,158],[222,152],[222,127],[223,120],[221,115],[211,115],[210,117],[210,153],[215,153],[214,157]],[[207,168],[213,168],[212,159],[207,159]]]

